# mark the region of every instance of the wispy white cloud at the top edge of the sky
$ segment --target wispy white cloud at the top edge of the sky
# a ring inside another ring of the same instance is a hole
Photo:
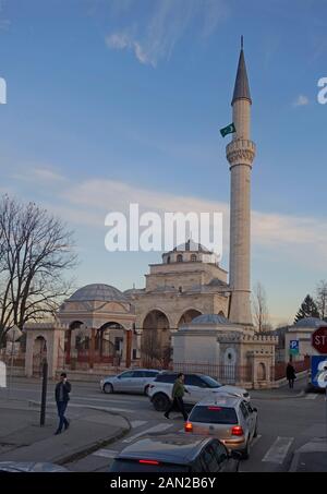
[[[130,50],[141,63],[153,67],[161,59],[169,60],[191,26],[196,35],[210,36],[228,13],[225,0],[145,0],[143,7],[147,9],[140,14],[138,0],[124,3],[122,27],[110,32],[106,44],[110,49]],[[116,1],[112,9],[117,16]]]

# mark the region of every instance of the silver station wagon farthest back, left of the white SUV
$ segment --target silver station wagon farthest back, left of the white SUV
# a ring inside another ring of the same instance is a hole
[[[104,393],[137,393],[147,395],[150,383],[160,371],[155,369],[137,369],[108,376],[100,381]]]

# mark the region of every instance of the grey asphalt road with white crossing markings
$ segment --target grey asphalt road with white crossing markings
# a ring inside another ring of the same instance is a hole
[[[298,383],[291,391],[252,391],[252,402],[258,409],[258,436],[252,445],[250,459],[241,462],[241,471],[288,471],[295,449],[312,437],[326,436],[325,397],[315,394],[299,396],[304,384]],[[49,402],[53,402],[53,387],[52,384],[48,387]],[[8,390],[0,389],[0,399],[4,394]],[[14,381],[11,398],[39,401],[40,383]],[[172,413],[171,420],[166,420],[145,396],[104,395],[96,383],[73,383],[70,407],[85,406],[106,408],[126,417],[132,430],[123,439],[68,465],[73,471],[108,471],[117,453],[137,437],[183,430],[181,415]]]

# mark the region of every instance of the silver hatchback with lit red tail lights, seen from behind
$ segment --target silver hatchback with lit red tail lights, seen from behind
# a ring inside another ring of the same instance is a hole
[[[213,435],[228,449],[249,458],[257,425],[257,409],[249,401],[230,395],[216,395],[195,405],[184,429],[187,433]]]

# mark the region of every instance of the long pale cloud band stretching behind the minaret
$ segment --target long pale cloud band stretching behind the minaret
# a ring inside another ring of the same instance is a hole
[[[56,172],[55,169],[35,168],[25,173],[43,182],[49,191],[47,205],[57,215],[64,217],[74,225],[87,228],[105,228],[105,217],[110,212],[128,214],[129,205],[137,203],[140,212],[195,212],[223,215],[223,251],[228,251],[229,204],[206,201],[202,197],[174,195],[165,192],[137,188],[122,181],[106,179],[88,179],[73,182]],[[60,184],[53,189],[53,180]],[[20,176],[24,180],[24,176]],[[38,182],[40,183],[40,182]],[[16,188],[23,195],[23,190]],[[314,217],[291,216],[252,210],[252,243],[259,249],[265,257],[283,256],[292,263],[311,264],[325,268],[327,263],[327,221]]]

